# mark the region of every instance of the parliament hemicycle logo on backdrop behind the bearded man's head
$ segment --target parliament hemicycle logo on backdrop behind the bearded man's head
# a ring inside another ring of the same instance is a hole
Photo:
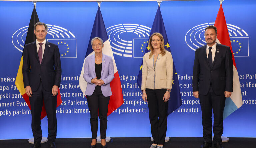
[[[206,45],[204,31],[210,25],[214,23],[197,25],[186,33],[185,42],[190,49],[195,51]],[[227,27],[234,57],[249,57],[249,35],[235,25],[227,24]]]

